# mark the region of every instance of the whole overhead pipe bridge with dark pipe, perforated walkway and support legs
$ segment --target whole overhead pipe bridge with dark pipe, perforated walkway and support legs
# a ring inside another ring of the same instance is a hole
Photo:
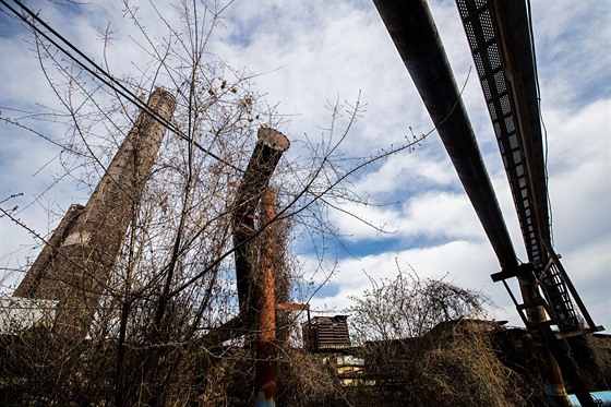
[[[426,0],[373,2],[499,259],[501,271],[492,279],[504,284],[531,334],[548,397],[554,405],[571,405],[564,375],[579,403],[594,406],[565,340],[602,326],[595,325],[552,247],[529,1],[456,0],[503,158],[527,263],[517,261]],[[507,285],[510,278],[517,278],[522,300]]]

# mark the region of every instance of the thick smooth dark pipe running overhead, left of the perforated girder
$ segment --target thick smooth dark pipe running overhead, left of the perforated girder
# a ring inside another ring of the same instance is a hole
[[[374,0],[503,270],[518,263],[426,1]]]

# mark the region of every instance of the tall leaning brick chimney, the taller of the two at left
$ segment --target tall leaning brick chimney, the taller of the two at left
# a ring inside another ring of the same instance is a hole
[[[147,106],[169,121],[176,99],[157,88]],[[87,334],[165,132],[166,127],[148,112],[139,115],[89,201],[71,219],[59,247],[52,248],[45,270],[31,270],[39,280],[28,292],[31,298],[60,301],[56,334],[73,340]]]

